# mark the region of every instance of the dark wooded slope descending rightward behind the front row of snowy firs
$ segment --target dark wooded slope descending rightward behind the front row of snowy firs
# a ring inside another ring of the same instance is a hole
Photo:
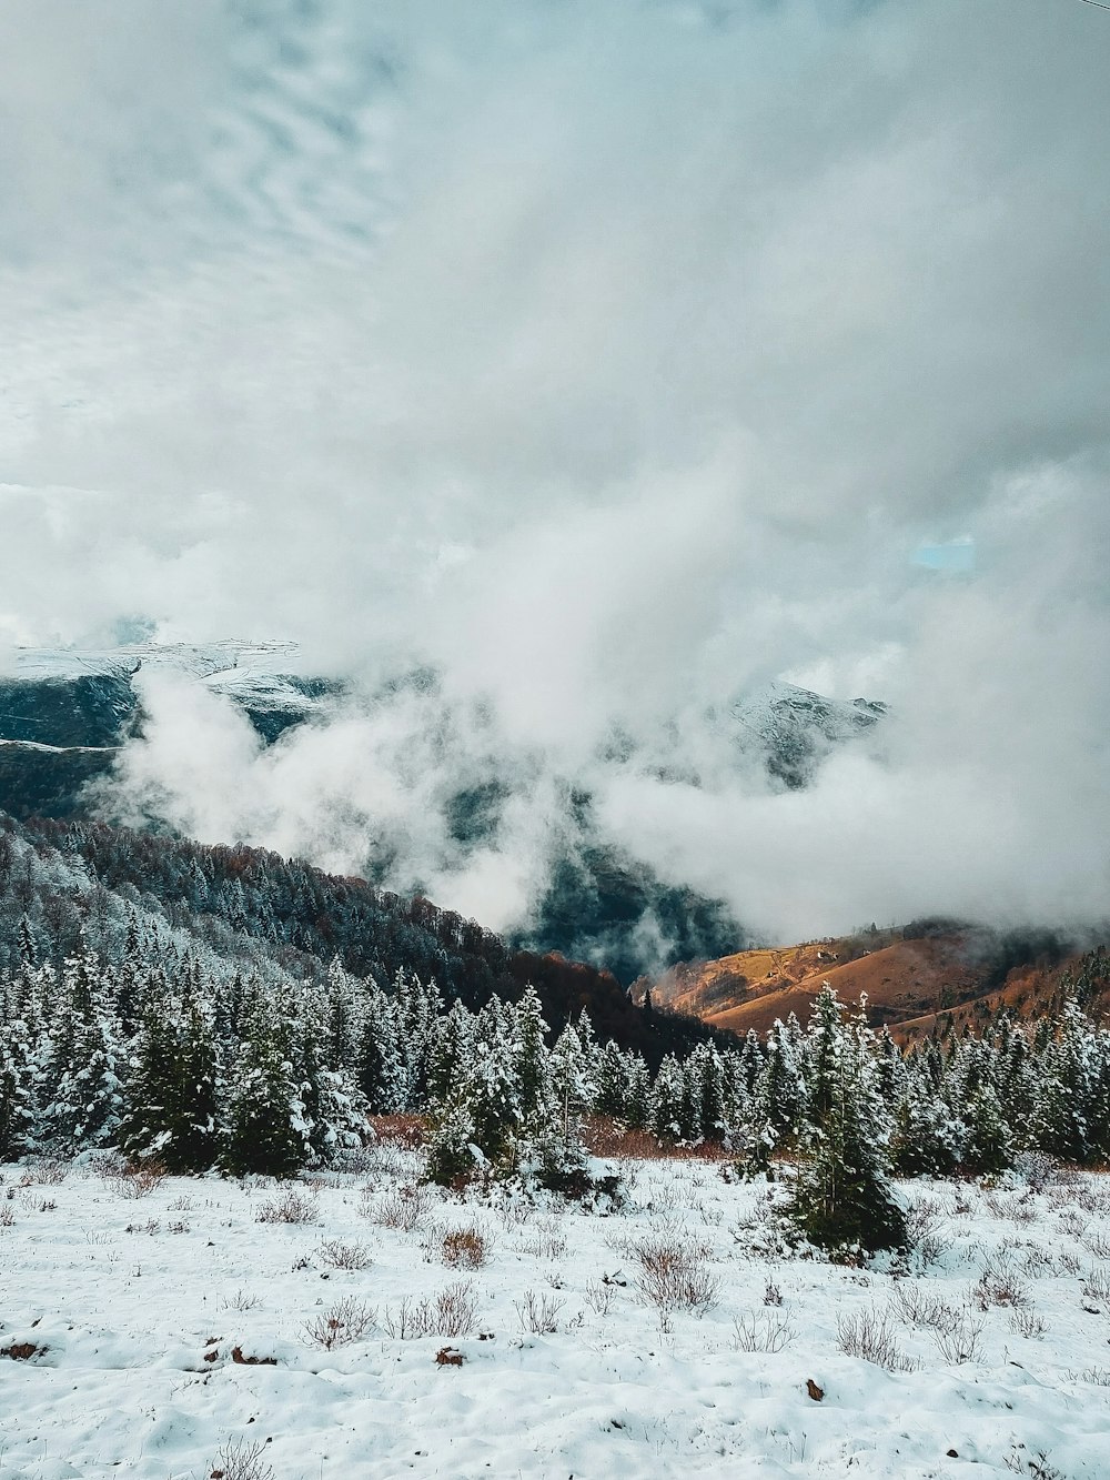
[[[607,971],[509,950],[475,921],[419,895],[401,898],[263,848],[86,821],[16,823],[0,813],[0,969],[18,963],[24,915],[40,955],[61,971],[81,934],[105,961],[118,961],[130,912],[145,926],[176,932],[218,975],[318,983],[337,956],[360,978],[386,983],[406,971],[435,980],[447,1003],[475,1011],[494,996],[515,1000],[533,984],[555,1030],[586,1008],[598,1032],[653,1066],[667,1051],[685,1054],[715,1037],[690,1018],[645,1015]]]

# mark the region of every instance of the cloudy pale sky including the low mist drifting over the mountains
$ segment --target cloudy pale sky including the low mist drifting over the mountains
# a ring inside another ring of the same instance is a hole
[[[1109,62],[1079,0],[0,7],[0,665],[296,639],[364,697],[262,755],[154,682],[124,793],[388,824],[494,928],[567,777],[767,938],[1104,919]],[[882,744],[776,792],[704,722],[773,679]]]

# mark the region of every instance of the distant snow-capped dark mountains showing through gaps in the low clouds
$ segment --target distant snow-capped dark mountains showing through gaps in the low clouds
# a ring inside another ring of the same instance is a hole
[[[120,747],[141,731],[142,676],[149,672],[179,675],[232,702],[266,746],[308,721],[324,724],[345,685],[297,673],[297,666],[292,642],[21,650],[0,675],[0,808],[16,817],[84,815],[87,783],[107,776]],[[428,690],[432,696],[434,687]],[[388,706],[406,693],[411,699],[411,685],[398,682],[374,703]],[[444,724],[443,709],[431,713],[437,703],[429,699],[432,728]],[[727,700],[696,728],[715,736],[718,762],[727,768],[762,770],[773,786],[799,789],[835,749],[867,736],[884,715],[878,702],[842,702],[777,682]],[[556,793],[565,796],[565,815],[554,829],[556,855],[530,903],[528,921],[511,932],[517,946],[607,965],[629,983],[660,965],[713,959],[746,943],[725,904],[681,879],[660,878],[598,820],[593,789],[604,786],[610,773],[644,770],[665,784],[703,784],[682,734],[675,727],[673,737],[660,744],[614,746],[595,758],[589,777],[559,773]],[[462,768],[444,762],[437,805],[443,805],[459,860],[505,845],[499,829],[514,801],[512,774],[496,747],[481,776],[468,773],[462,780]],[[379,838],[370,813],[363,872],[403,892],[420,889],[417,875],[398,876],[385,824],[380,832]]]

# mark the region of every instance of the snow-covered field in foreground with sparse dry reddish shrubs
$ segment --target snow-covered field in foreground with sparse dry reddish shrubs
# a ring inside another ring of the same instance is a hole
[[[904,1184],[916,1252],[854,1270],[712,1162],[620,1169],[605,1217],[416,1188],[395,1147],[3,1168],[0,1480],[1110,1476],[1110,1178]]]

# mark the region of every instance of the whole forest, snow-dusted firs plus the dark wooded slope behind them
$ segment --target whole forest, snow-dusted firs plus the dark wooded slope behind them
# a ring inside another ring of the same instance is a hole
[[[583,1122],[799,1159],[824,1246],[903,1239],[888,1178],[1110,1156],[1095,952],[1055,1017],[903,1052],[826,989],[759,1039],[633,1008],[613,978],[361,881],[90,824],[0,833],[0,1159],[118,1148],[170,1172],[289,1177],[371,1117],[426,1117],[428,1175],[589,1190]]]

